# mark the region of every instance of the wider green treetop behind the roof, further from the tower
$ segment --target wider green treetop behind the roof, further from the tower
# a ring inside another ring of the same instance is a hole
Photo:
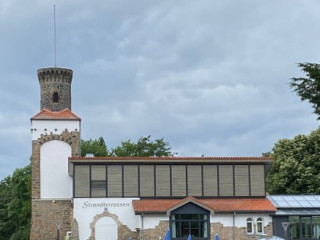
[[[170,151],[169,143],[163,138],[150,140],[151,136],[139,138],[137,143],[127,140],[112,149],[110,155],[116,157],[168,157],[174,154]]]

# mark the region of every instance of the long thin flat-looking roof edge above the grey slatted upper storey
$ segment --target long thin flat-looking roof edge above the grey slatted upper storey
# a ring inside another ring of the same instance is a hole
[[[266,163],[273,162],[270,157],[70,157],[71,162],[81,163],[112,163],[112,162],[198,162],[198,163],[212,163],[212,162],[256,162]]]

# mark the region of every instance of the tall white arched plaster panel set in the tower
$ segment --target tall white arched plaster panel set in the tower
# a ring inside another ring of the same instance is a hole
[[[52,140],[40,148],[40,196],[42,199],[72,197],[72,178],[68,173],[71,146]]]

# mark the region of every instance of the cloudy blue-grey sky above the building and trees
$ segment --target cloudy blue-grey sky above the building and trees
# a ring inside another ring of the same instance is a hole
[[[317,129],[292,92],[320,63],[319,0],[1,0],[0,179],[29,163],[37,69],[74,71],[82,138],[164,138],[178,156],[261,156]]]

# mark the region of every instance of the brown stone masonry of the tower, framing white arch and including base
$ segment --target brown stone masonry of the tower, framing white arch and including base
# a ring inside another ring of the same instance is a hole
[[[60,239],[71,230],[73,204],[70,200],[40,199],[40,148],[52,140],[68,143],[72,156],[80,155],[80,132],[63,132],[61,135],[41,135],[32,142],[32,216],[30,240],[56,240],[60,225]]]

